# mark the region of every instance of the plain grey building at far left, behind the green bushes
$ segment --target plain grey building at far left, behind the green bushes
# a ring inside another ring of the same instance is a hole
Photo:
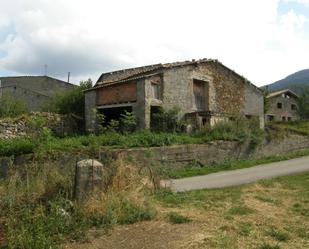
[[[76,87],[48,76],[0,77],[0,98],[5,94],[26,103],[29,111],[40,111],[58,92]]]

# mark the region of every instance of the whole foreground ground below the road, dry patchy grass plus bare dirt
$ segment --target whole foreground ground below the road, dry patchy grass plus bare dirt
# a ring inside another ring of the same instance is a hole
[[[92,232],[69,249],[309,248],[309,173],[240,187],[152,196],[154,220]]]

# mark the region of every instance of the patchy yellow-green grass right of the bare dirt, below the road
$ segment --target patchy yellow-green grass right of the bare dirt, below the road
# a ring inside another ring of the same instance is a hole
[[[192,248],[309,248],[309,173],[156,200],[201,225]]]

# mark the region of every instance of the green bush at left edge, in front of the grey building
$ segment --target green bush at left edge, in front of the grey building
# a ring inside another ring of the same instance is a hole
[[[0,97],[0,117],[17,117],[27,113],[27,104],[19,99],[13,99],[9,94],[3,94]]]

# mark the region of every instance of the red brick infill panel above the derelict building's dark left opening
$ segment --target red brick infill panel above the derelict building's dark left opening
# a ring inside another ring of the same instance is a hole
[[[136,101],[136,82],[120,83],[99,88],[97,105],[111,105]]]

